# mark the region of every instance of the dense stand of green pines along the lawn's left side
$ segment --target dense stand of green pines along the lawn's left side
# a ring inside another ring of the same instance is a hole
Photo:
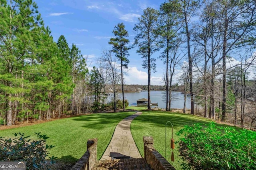
[[[94,111],[101,74],[61,35],[53,41],[32,0],[0,1],[0,125]],[[94,108],[93,108],[94,106]]]

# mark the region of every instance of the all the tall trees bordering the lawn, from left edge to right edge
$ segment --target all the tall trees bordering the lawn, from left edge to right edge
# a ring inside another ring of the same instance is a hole
[[[53,41],[34,2],[0,4],[1,124],[124,110],[124,74],[129,50],[135,48],[148,72],[148,85],[139,87],[148,90],[148,101],[150,90],[165,90],[170,111],[175,76],[184,101],[190,98],[191,114],[256,126],[256,78],[251,76],[256,62],[255,0],[168,0],[159,10],[146,8],[134,25],[133,45],[124,23],[118,23],[109,41],[112,48],[102,51],[98,68],[90,72],[76,45],[69,47],[64,35]],[[166,64],[161,89],[150,82],[156,59]],[[117,92],[122,92],[122,106]]]

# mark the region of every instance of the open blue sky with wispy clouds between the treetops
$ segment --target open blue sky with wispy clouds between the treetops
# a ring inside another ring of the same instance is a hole
[[[35,0],[45,26],[52,31],[54,41],[64,35],[69,43],[76,44],[82,55],[88,57],[88,66],[97,66],[102,50],[110,49],[112,30],[118,23],[126,25],[130,45],[134,41],[134,24],[147,7],[159,9],[161,0]],[[148,84],[147,70],[142,68],[141,56],[136,48],[129,51],[130,63],[126,84]],[[157,58],[159,53],[153,55]],[[151,84],[162,84],[164,64],[157,60],[157,72],[152,73]]]

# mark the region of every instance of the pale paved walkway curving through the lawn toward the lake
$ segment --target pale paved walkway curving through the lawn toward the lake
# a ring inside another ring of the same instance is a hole
[[[141,114],[142,112],[136,112],[118,123],[112,139],[100,160],[111,160],[112,158],[142,158],[130,130],[132,120]]]

